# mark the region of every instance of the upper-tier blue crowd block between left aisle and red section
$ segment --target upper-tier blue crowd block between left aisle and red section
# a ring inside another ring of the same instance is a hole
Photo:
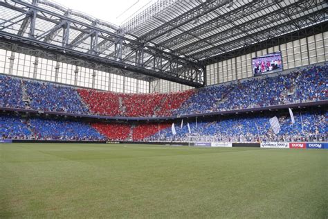
[[[73,87],[30,80],[24,80],[24,85],[32,109],[74,114],[87,114],[89,112]]]

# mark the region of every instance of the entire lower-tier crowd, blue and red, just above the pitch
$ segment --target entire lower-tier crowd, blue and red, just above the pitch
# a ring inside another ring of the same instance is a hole
[[[62,119],[24,119],[19,116],[0,116],[2,139],[94,140],[94,141],[188,141],[188,136],[212,136],[215,141],[327,141],[327,109],[295,110],[295,123],[285,112],[224,116],[172,123],[85,123]],[[274,134],[269,119],[277,116],[281,130]]]

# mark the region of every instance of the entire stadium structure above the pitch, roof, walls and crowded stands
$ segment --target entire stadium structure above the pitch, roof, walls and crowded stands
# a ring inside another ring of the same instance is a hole
[[[159,0],[122,26],[0,11],[3,139],[327,141],[326,1]]]

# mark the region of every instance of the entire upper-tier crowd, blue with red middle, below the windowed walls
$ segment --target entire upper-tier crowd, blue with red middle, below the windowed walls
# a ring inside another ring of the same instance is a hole
[[[326,100],[327,80],[325,64],[177,93],[120,94],[0,75],[0,106],[104,116],[179,116]],[[22,87],[29,100],[25,104]]]

